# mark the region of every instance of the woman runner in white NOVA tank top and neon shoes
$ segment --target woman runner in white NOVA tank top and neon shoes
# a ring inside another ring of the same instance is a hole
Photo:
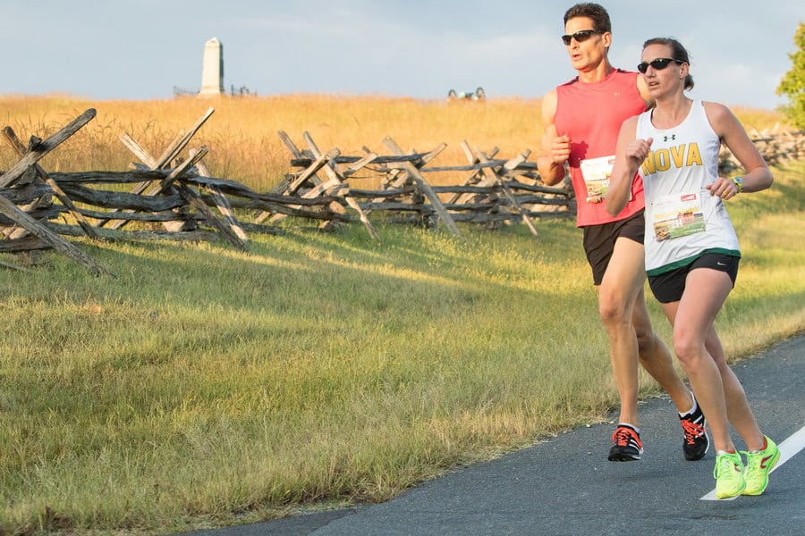
[[[640,172],[648,281],[674,326],[674,352],[713,434],[716,497],[760,495],[779,449],[758,428],[741,383],[726,363],[714,321],[733,289],[741,256],[724,203],[768,188],[772,174],[726,106],[684,94],[693,79],[688,53],[678,41],[649,39],[638,70],[657,105],[623,122],[606,209],[610,214],[622,210],[631,180]],[[721,143],[744,167],[741,177],[719,176]],[[749,448],[745,469],[730,423]]]

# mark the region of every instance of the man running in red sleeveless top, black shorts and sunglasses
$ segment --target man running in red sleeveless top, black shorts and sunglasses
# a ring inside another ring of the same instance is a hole
[[[639,460],[638,363],[674,400],[689,460],[708,450],[705,419],[674,369],[668,349],[651,327],[644,296],[643,186],[635,180],[631,199],[617,216],[603,203],[623,121],[650,105],[645,81],[609,62],[612,25],[598,4],[576,4],[564,14],[562,40],[578,76],[542,101],[543,138],[538,172],[545,184],[562,181],[569,169],[577,201],[576,224],[598,293],[598,313],[609,337],[609,357],[621,401],[611,461]]]

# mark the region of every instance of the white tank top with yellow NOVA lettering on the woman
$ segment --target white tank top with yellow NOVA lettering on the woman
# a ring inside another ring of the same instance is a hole
[[[670,272],[704,253],[741,256],[738,237],[720,197],[705,189],[718,178],[721,140],[701,101],[672,129],[651,124],[641,113],[637,138],[654,138],[640,166],[646,197],[646,271]]]

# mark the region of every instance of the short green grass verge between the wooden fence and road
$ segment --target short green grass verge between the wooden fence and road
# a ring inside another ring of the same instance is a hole
[[[733,358],[805,325],[803,170],[730,205],[744,258],[718,326]],[[77,240],[118,279],[55,253],[0,271],[0,534],[178,532],[385,500],[608,417],[572,222],[538,222],[538,239],[378,227],[380,245],[357,224],[289,223],[249,253]]]

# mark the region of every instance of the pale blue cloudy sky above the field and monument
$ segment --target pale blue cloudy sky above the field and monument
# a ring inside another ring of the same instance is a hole
[[[691,52],[693,96],[774,108],[801,0],[601,2],[610,53],[634,69],[647,38]],[[538,97],[574,76],[554,0],[4,0],[0,95],[171,98],[198,90],[204,44],[224,46],[225,88],[258,95],[444,98],[451,88]]]

